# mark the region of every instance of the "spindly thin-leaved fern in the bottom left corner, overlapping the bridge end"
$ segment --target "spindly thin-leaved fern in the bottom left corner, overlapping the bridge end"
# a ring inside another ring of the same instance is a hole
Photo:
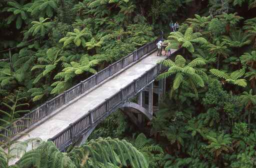
[[[14,98],[12,98],[14,97]],[[27,113],[29,110],[26,110],[28,103],[21,103],[26,99],[26,97],[19,97],[19,92],[17,94],[12,94],[12,97],[7,96],[9,103],[1,102],[2,107],[4,106],[6,110],[0,109],[4,118],[0,118],[0,121],[4,126],[0,126],[0,129],[4,130],[6,133],[0,133],[0,166],[8,167],[9,161],[19,158],[22,154],[25,153],[28,144],[40,141],[40,139],[28,139],[22,142],[15,141],[12,139],[15,135],[23,135],[21,133],[13,133],[12,129],[24,129],[25,125],[17,124],[18,122],[24,122],[27,118],[20,118],[21,113]],[[35,143],[38,144],[38,143]]]

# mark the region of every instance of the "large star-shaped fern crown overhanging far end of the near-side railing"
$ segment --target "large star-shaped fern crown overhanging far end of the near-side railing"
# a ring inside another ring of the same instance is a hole
[[[172,85],[173,90],[179,88],[181,85],[188,85],[188,87],[190,85],[197,94],[196,86],[203,87],[203,80],[207,79],[204,69],[198,68],[197,66],[204,65],[205,61],[202,58],[195,58],[186,65],[185,62],[185,58],[181,55],[175,57],[175,62],[169,59],[160,61],[160,64],[169,67],[169,69],[159,74],[157,78],[162,79],[175,74]]]

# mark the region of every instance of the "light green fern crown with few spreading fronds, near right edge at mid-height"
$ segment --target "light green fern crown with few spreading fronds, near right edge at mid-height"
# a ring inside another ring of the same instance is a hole
[[[245,69],[239,69],[231,72],[230,74],[223,72],[218,69],[210,69],[210,72],[214,74],[217,77],[225,79],[227,82],[230,82],[232,84],[236,84],[238,86],[245,87],[247,85],[246,80],[244,78],[241,78],[244,73]]]

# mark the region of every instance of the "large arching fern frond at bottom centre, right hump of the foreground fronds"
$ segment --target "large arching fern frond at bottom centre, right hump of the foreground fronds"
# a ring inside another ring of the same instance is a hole
[[[100,153],[100,154],[99,154]],[[109,165],[132,167],[148,167],[148,162],[141,152],[126,140],[98,138],[91,139],[79,148],[74,148],[68,153],[75,165],[88,167],[101,167]]]

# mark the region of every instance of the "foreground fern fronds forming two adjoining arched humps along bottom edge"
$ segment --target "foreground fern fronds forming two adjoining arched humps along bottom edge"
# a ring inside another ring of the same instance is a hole
[[[148,162],[143,154],[125,140],[98,138],[90,140],[69,153],[61,153],[51,141],[42,142],[30,150],[16,163],[25,167],[119,167],[131,165],[146,168]]]

